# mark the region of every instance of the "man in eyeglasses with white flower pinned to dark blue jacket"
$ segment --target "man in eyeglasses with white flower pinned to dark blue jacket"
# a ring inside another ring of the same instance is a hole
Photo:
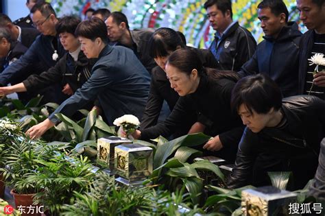
[[[47,71],[65,53],[57,36],[56,23],[58,23],[58,19],[51,5],[36,3],[30,11],[30,15],[33,25],[41,34],[19,60],[16,60],[0,74],[2,86],[12,82],[14,77]],[[45,96],[44,102],[51,101],[60,104],[66,98],[61,93],[61,86],[49,86],[39,93]]]

